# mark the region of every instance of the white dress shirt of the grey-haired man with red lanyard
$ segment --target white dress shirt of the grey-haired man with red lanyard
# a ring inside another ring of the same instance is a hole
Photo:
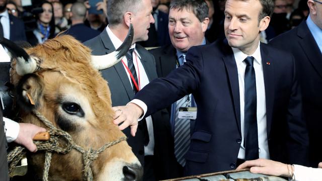
[[[115,34],[112,32],[112,30],[109,28],[109,26],[106,27],[106,31],[107,31],[107,34],[109,35],[115,49],[120,47],[122,44],[122,41],[118,37],[115,36]],[[147,85],[149,83],[149,79],[148,79],[145,69],[142,65],[141,57],[135,49],[135,43],[131,46],[131,48],[134,48],[133,65],[136,70],[136,75],[138,76],[138,79],[140,80],[140,82],[139,82],[140,84],[138,86],[139,86],[139,89],[142,89],[145,85]],[[127,66],[127,59],[125,56],[123,58],[123,62]],[[126,71],[126,67],[124,64],[123,64],[123,66]],[[132,82],[128,71],[126,71],[126,74],[129,78],[129,81]],[[132,85],[132,83],[131,83],[131,85]],[[132,88],[133,88],[133,85],[132,85]],[[149,134],[149,143],[147,144],[147,146],[144,146],[144,155],[153,155],[154,134],[153,134],[152,118],[151,118],[151,116],[148,116],[145,118],[145,120],[146,120],[146,127],[147,127],[148,134]]]

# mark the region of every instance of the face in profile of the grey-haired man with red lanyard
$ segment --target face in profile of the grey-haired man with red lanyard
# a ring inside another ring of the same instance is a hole
[[[134,28],[133,42],[146,41],[148,39],[147,33],[150,28],[150,23],[154,23],[151,12],[151,1],[142,0],[142,5],[138,12],[133,13],[133,17],[131,17],[131,22]]]

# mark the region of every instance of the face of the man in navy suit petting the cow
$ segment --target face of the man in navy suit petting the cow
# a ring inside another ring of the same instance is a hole
[[[261,10],[259,0],[227,0],[224,30],[229,46],[238,48],[244,53],[256,50],[260,31],[264,31],[269,23],[269,17],[258,22]]]

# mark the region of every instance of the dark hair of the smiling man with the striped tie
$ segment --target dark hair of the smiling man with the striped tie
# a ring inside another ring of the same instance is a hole
[[[208,18],[209,8],[204,0],[173,0],[170,3],[171,9],[177,9],[179,11],[183,9],[192,10],[200,22]]]

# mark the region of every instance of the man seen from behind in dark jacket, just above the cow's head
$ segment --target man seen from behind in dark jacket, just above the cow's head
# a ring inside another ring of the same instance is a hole
[[[94,30],[84,24],[87,9],[83,3],[76,2],[71,7],[70,20],[71,27],[64,33],[75,37],[81,42],[90,40],[98,36],[101,32]]]

